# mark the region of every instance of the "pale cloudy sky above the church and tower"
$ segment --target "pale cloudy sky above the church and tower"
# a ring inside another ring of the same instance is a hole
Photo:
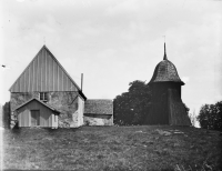
[[[0,103],[43,44],[88,99],[114,99],[176,67],[190,112],[222,100],[221,0],[2,0]]]

